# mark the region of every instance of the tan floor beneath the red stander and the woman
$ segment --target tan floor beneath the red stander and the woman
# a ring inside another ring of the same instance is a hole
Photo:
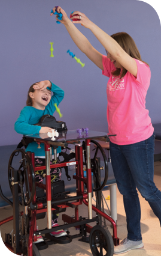
[[[154,182],[156,186],[161,190],[161,163],[154,163]],[[104,196],[107,197],[110,192],[107,190],[104,192]],[[160,256],[161,255],[161,228],[159,224],[159,220],[156,218],[154,213],[152,212],[150,206],[147,201],[144,200],[141,196],[139,196],[141,201],[141,232],[142,238],[144,242],[143,249],[136,249],[129,252],[126,252],[126,256]],[[110,201],[109,205],[110,205]],[[6,207],[5,209],[0,209],[0,220],[7,218],[12,215],[11,207]],[[122,196],[117,191],[117,236],[120,240],[124,239],[127,236],[126,230],[126,217],[123,208],[123,199]],[[73,209],[67,209],[66,214],[69,216],[74,215]],[[79,214],[83,217],[87,217],[87,207],[80,206]],[[59,216],[59,224],[63,224],[61,220],[61,215]],[[93,214],[95,216],[95,214]],[[45,228],[47,227],[46,219],[38,220],[39,227]],[[95,225],[95,223],[93,223]],[[113,230],[110,227],[110,223],[107,223],[108,230],[111,234],[113,234]],[[9,224],[4,224],[1,226],[1,236],[4,240],[4,234],[10,233],[13,229],[13,222]],[[79,233],[75,228],[69,229],[71,234]],[[3,246],[2,246],[3,247]],[[13,255],[11,252],[7,253],[7,250],[4,250],[1,247],[1,252],[4,253],[2,255]],[[1,254],[1,253],[0,253]],[[83,243],[78,241],[78,239],[73,239],[71,243],[67,245],[50,245],[44,251],[40,251],[41,256],[46,255],[56,255],[56,256],[92,256],[92,252],[90,251],[90,246],[88,243]]]

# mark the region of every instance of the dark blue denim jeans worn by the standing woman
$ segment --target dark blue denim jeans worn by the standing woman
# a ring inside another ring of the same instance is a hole
[[[153,134],[145,141],[130,145],[117,145],[110,142],[114,176],[118,189],[123,195],[127,237],[133,241],[142,240],[141,209],[136,187],[150,204],[161,225],[161,192],[153,181],[154,139]]]

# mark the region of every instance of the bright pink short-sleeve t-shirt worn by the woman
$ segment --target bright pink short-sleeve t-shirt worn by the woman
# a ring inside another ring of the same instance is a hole
[[[107,121],[110,141],[118,145],[128,145],[148,139],[154,132],[148,110],[145,109],[145,97],[150,85],[150,68],[135,59],[137,78],[131,73],[119,79],[111,74],[116,67],[113,62],[102,56],[107,83]]]

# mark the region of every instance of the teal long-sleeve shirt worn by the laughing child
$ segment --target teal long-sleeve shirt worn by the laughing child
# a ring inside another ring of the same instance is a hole
[[[47,87],[47,89],[53,92],[53,96],[51,97],[48,105],[45,106],[44,110],[36,109],[32,106],[25,106],[14,124],[14,130],[16,130],[17,133],[23,135],[39,133],[41,126],[34,126],[34,124],[37,124],[40,121],[42,115],[53,115],[54,111],[56,110],[54,103],[57,103],[57,106],[59,105],[64,97],[64,91],[53,83],[51,83],[51,88]],[[37,142],[33,141],[28,145],[26,151],[34,152],[35,156],[44,157],[44,144],[41,143],[40,147],[41,148],[38,148]],[[60,151],[61,147],[58,147],[57,153],[60,153]]]

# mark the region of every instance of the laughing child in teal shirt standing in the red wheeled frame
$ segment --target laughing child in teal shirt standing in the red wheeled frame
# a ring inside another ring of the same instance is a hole
[[[51,92],[53,92],[52,97]],[[54,103],[57,103],[58,106],[63,97],[64,91],[50,81],[41,81],[31,85],[28,91],[28,99],[26,101],[27,106],[22,109],[19,118],[17,118],[17,121],[14,124],[14,129],[16,132],[23,135],[51,132],[50,127],[34,126],[34,124],[37,124],[40,121],[42,115],[53,115],[54,111],[56,110]],[[38,148],[37,142],[34,141],[31,142],[26,148],[26,151],[35,153],[35,167],[45,165],[44,144],[41,143],[40,147],[41,148]],[[59,156],[60,151],[61,148],[58,147],[57,156]],[[59,159],[57,160],[59,161]],[[56,161],[53,160],[52,163],[56,163]],[[45,170],[35,172],[36,182],[43,182],[44,178],[42,177],[42,174],[44,174],[44,172]],[[51,183],[60,181],[62,170],[60,168],[51,169],[50,174]],[[53,214],[51,223],[52,227],[56,227],[58,225],[57,219],[58,215]],[[63,230],[51,232],[50,234],[55,237],[66,236],[66,232]],[[37,236],[37,242],[35,243],[40,243],[42,241],[42,236]]]

